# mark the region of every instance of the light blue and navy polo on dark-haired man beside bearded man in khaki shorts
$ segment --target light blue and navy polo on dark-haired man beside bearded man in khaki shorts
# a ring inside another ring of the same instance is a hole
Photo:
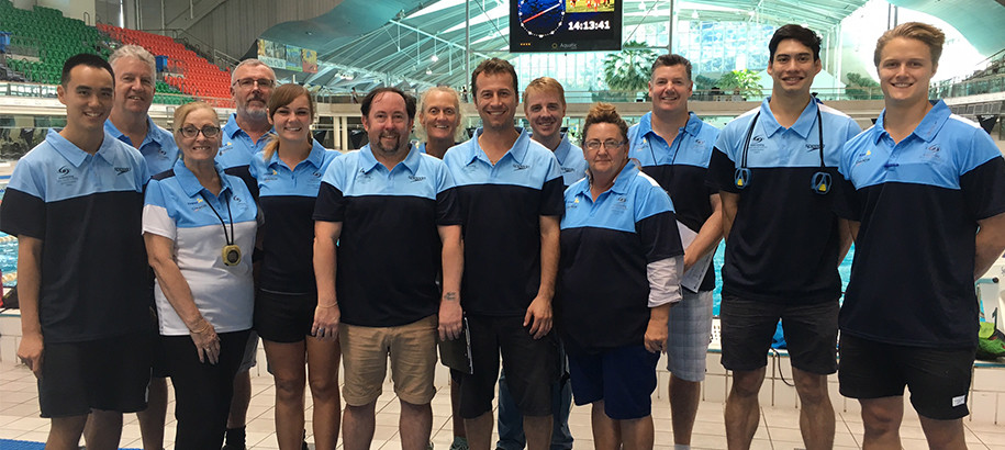
[[[562,214],[562,178],[551,150],[523,128],[495,165],[474,137],[451,147],[444,162],[464,212],[468,314],[522,316],[540,288],[540,216]]]

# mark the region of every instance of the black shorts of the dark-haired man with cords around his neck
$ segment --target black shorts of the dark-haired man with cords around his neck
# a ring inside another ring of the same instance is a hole
[[[781,319],[792,367],[819,375],[834,373],[839,310],[837,300],[800,305],[723,294],[723,367],[750,371],[768,365],[768,349]]]

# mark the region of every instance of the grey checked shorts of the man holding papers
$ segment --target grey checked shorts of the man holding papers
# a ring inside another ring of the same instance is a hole
[[[691,293],[670,308],[667,370],[684,381],[705,379],[705,357],[712,341],[712,291]]]

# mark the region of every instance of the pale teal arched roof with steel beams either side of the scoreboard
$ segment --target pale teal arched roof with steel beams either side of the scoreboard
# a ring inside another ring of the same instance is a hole
[[[986,0],[994,1],[994,0]],[[680,19],[804,24],[818,33],[836,30],[867,0],[678,0]],[[334,91],[367,91],[381,85],[422,89],[461,86],[466,69],[466,23],[471,64],[509,53],[509,0],[344,0],[319,18],[278,24],[261,37],[317,50],[319,72],[305,81]],[[411,8],[410,8],[411,7]],[[399,8],[394,10],[394,8]],[[670,1],[625,0],[626,41],[641,24],[670,21]],[[282,74],[280,74],[282,75]]]

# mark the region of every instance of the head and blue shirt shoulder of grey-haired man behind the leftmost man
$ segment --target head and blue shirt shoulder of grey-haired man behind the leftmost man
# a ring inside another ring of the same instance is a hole
[[[138,149],[150,175],[170,169],[178,159],[175,136],[148,114],[157,76],[154,55],[138,45],[124,45],[112,53],[109,64],[115,70],[115,102],[104,131]]]

